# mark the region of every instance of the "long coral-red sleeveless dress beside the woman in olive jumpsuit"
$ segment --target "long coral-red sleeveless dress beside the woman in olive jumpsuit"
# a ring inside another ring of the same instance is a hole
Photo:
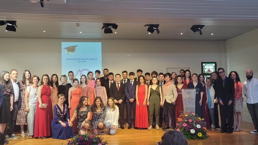
[[[145,98],[145,85],[140,85],[138,88],[138,101],[139,107],[136,105],[135,108],[135,127],[138,128],[148,128],[149,121],[148,121],[148,110],[147,110],[147,103],[143,107],[142,103]]]

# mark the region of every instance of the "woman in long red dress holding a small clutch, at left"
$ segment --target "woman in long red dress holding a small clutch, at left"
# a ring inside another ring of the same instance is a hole
[[[51,122],[53,120],[52,102],[50,95],[52,87],[50,86],[49,76],[44,74],[41,78],[41,84],[38,87],[38,103],[35,116],[34,138],[41,137],[45,139],[52,135]],[[46,108],[43,107],[44,104]]]

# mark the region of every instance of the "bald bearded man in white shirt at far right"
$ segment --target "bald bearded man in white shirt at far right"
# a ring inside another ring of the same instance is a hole
[[[244,95],[246,96],[247,109],[252,117],[254,123],[254,131],[252,134],[258,132],[258,79],[253,78],[253,71],[247,69],[246,72],[247,80],[243,83]]]

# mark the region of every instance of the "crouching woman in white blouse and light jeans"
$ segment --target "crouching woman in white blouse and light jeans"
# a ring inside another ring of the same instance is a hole
[[[108,130],[108,134],[115,135],[118,128],[119,109],[114,103],[112,97],[108,98],[108,105],[106,107],[106,117],[104,124]]]

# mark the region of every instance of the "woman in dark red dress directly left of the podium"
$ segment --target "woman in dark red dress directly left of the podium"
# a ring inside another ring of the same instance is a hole
[[[180,89],[188,89],[188,88],[187,88],[187,85],[183,83],[183,77],[180,75],[176,76],[175,85],[176,85],[176,91],[178,93],[178,96],[176,98],[176,102],[174,105],[175,117],[176,117],[176,123],[177,123],[177,118],[182,113],[182,111],[184,111],[182,93],[179,93],[179,91]],[[171,126],[172,126],[172,122],[171,122]]]

